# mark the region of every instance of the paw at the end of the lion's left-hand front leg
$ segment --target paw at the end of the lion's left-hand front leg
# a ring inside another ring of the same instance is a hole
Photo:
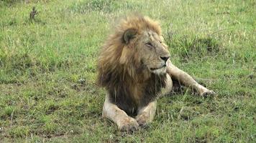
[[[122,124],[119,125],[119,129],[122,132],[134,132],[139,129],[139,124],[135,119],[129,117],[122,121]]]

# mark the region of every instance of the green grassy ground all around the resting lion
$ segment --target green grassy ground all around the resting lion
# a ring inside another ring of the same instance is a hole
[[[0,142],[256,142],[255,6],[0,1]],[[130,11],[159,20],[173,63],[217,95],[163,97],[149,128],[123,134],[101,119],[96,59],[111,23]]]

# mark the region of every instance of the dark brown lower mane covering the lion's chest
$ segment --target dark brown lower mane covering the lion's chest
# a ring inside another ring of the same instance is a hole
[[[117,79],[119,80],[119,79]],[[116,81],[109,88],[110,101],[129,115],[136,115],[138,107],[145,106],[160,96],[165,88],[166,75],[152,75],[142,83],[125,82],[127,79]]]

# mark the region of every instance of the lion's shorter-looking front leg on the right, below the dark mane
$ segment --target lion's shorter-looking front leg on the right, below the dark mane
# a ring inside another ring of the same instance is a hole
[[[157,101],[150,102],[145,107],[139,108],[136,120],[140,126],[145,126],[147,123],[152,122],[155,116],[155,109],[157,108]]]

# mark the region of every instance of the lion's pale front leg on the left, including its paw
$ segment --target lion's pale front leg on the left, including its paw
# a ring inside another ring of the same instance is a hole
[[[131,132],[139,128],[134,118],[129,117],[126,112],[109,101],[109,94],[106,94],[102,117],[111,119],[121,131]]]

